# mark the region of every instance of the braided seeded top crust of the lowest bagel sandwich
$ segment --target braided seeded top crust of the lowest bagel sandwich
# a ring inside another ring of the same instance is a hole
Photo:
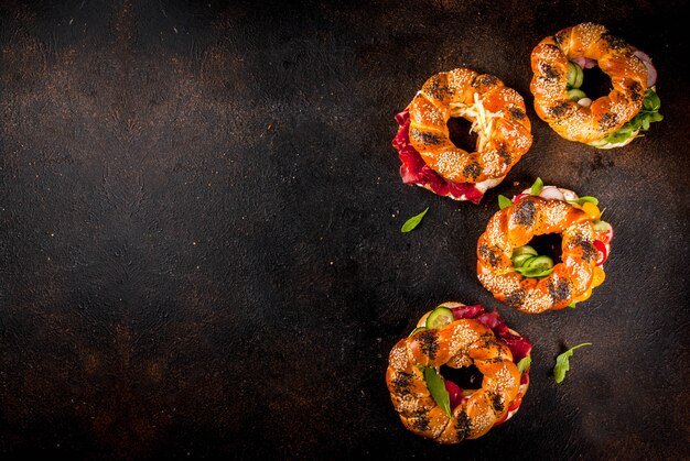
[[[431,397],[422,370],[472,363],[484,374],[482,387],[467,394],[449,418]],[[474,319],[455,320],[400,340],[390,351],[386,383],[405,427],[440,443],[483,436],[526,391],[520,389],[520,372],[510,350]]]

